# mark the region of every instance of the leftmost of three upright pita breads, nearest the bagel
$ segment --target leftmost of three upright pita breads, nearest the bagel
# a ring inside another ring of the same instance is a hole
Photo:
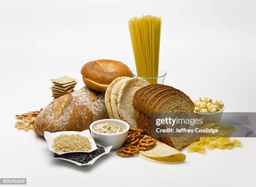
[[[116,85],[116,83],[118,83],[119,81],[125,79],[125,78],[129,78],[129,77],[118,77],[115,80],[113,80],[110,85],[108,86],[106,93],[105,93],[105,106],[106,109],[108,111],[108,116],[110,119],[115,119],[112,108],[111,108],[111,101],[110,101],[110,95],[111,95],[111,91],[114,88],[114,86]]]

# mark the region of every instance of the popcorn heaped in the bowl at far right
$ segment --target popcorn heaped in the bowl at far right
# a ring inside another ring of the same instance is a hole
[[[201,113],[215,113],[220,111],[224,104],[220,100],[212,101],[212,99],[209,99],[207,97],[200,97],[199,100],[193,101],[196,112]]]

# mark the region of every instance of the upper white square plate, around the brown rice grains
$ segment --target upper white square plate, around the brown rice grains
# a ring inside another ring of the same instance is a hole
[[[69,151],[69,152],[56,152],[54,151],[54,148],[51,146],[53,144],[53,139],[56,138],[56,136],[59,136],[61,134],[80,134],[81,136],[86,136],[89,139],[89,142],[91,142],[92,145],[92,149],[90,151]],[[48,144],[48,149],[50,152],[56,153],[56,154],[65,154],[65,153],[75,153],[75,152],[83,152],[83,153],[90,153],[97,148],[97,145],[94,142],[94,139],[92,138],[89,129],[85,130],[85,131],[60,131],[60,132],[47,132],[44,131],[44,138],[46,139],[46,142]]]

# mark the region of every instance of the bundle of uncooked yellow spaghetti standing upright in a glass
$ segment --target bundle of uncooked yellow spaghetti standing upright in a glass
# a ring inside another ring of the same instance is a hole
[[[137,75],[158,77],[161,17],[143,15],[128,21]],[[157,79],[146,79],[157,83]]]

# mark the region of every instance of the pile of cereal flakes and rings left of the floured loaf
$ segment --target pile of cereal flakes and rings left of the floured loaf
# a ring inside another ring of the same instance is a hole
[[[39,111],[29,111],[28,113],[24,113],[24,114],[20,114],[20,115],[16,115],[15,117],[17,119],[21,119],[22,121],[17,121],[15,123],[15,127],[17,127],[17,129],[19,130],[24,130],[24,131],[28,131],[29,129],[34,130],[34,121],[36,119],[36,116],[41,112],[40,109]]]

